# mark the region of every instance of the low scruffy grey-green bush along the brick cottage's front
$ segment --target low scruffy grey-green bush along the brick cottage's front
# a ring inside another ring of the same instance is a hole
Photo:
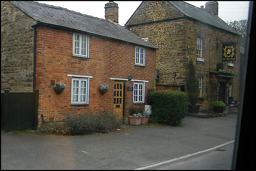
[[[47,122],[40,130],[44,134],[108,133],[120,128],[121,121],[114,114],[84,114],[68,116],[64,122]]]

